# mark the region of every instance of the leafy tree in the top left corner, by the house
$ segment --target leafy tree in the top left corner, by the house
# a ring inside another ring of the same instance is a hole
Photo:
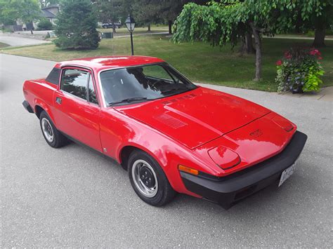
[[[9,0],[2,6],[1,19],[3,20],[21,20],[25,24],[30,24],[30,32],[32,32],[34,21],[41,18],[41,9],[38,0]]]

